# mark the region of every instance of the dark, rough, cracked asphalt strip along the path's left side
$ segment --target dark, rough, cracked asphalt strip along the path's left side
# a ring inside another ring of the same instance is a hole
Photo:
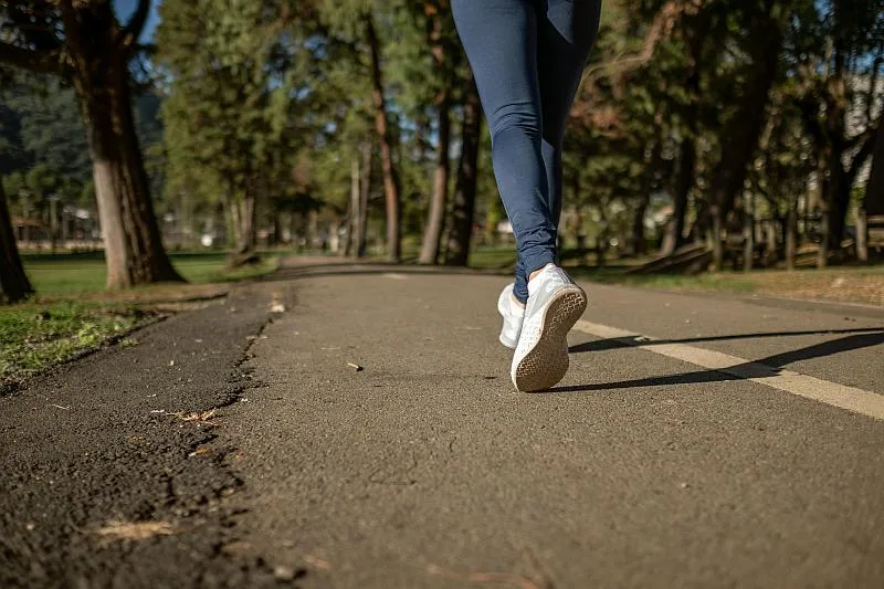
[[[240,290],[0,398],[0,587],[273,581],[225,551],[239,509],[225,498],[243,481],[223,418],[206,413],[251,386],[241,365],[267,301]]]

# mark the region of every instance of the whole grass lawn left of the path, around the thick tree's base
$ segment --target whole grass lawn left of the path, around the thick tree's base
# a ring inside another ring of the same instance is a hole
[[[157,317],[150,306],[134,301],[214,296],[219,290],[206,285],[267,274],[276,269],[278,257],[278,253],[265,255],[259,264],[231,271],[221,252],[175,253],[172,264],[191,284],[146,286],[105,296],[101,253],[25,254],[25,272],[38,297],[0,307],[0,393]],[[131,339],[122,344],[137,345]]]

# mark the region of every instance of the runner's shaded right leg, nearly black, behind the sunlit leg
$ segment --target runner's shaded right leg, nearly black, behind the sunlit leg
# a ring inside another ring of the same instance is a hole
[[[537,62],[544,113],[541,154],[549,210],[561,215],[561,144],[589,50],[599,29],[601,0],[543,0],[537,25]]]

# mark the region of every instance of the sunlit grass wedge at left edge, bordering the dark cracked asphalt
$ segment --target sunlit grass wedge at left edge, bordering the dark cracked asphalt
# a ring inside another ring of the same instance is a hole
[[[123,336],[152,316],[131,305],[71,301],[6,307],[0,311],[0,392]]]

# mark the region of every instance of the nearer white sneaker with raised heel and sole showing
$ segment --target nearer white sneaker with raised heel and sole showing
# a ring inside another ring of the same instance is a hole
[[[587,308],[587,294],[552,264],[528,282],[528,304],[509,376],[520,391],[555,386],[568,371],[568,332]]]

